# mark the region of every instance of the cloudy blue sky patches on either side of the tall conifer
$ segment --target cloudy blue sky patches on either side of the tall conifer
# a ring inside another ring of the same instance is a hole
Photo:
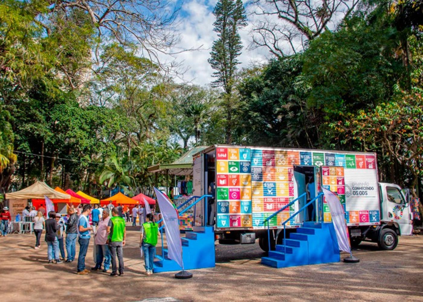
[[[208,85],[214,78],[213,69],[207,60],[210,58],[210,51],[213,41],[217,38],[217,33],[213,31],[213,22],[215,20],[212,13],[216,0],[185,0],[182,4],[178,17],[177,29],[181,41],[175,49],[196,49],[200,50],[182,52],[176,55],[176,60],[181,63],[184,72],[182,79],[175,79],[176,82],[192,82],[197,85]],[[242,54],[238,60],[239,69],[249,67],[256,63],[264,63],[269,58],[267,49],[252,49],[250,45],[250,30],[252,22],[240,30],[242,38]]]

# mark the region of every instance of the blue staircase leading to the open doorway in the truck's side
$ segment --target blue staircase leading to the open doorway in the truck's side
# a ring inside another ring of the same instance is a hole
[[[304,222],[296,233],[291,233],[284,244],[261,258],[261,263],[275,268],[321,264],[340,261],[338,240],[332,222]]]

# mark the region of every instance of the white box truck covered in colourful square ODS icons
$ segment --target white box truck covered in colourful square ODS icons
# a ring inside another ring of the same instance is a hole
[[[369,241],[393,250],[398,236],[411,235],[412,213],[398,185],[379,182],[376,159],[373,152],[210,146],[193,156],[194,195],[214,197],[196,211],[195,224],[214,225],[220,244],[258,239],[268,251],[268,242],[282,242],[286,220],[287,237],[304,221],[331,221],[325,200],[291,217],[324,187],[344,207],[352,247]]]

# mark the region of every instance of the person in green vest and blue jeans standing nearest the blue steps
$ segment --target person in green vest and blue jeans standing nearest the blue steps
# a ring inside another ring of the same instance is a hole
[[[153,214],[147,214],[147,222],[143,223],[140,231],[140,247],[144,252],[146,275],[153,274],[153,261],[156,254],[158,225],[154,222]]]

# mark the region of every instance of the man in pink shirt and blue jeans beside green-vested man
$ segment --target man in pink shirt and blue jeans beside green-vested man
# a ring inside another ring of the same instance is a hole
[[[107,226],[109,225],[110,216],[109,210],[104,209],[102,219],[99,221],[99,226],[94,238],[94,243],[96,247],[96,266],[91,268],[92,271],[102,269],[102,262],[104,259],[104,269],[103,272],[106,273],[110,269],[110,261],[112,256],[110,255],[109,247],[107,246]]]

